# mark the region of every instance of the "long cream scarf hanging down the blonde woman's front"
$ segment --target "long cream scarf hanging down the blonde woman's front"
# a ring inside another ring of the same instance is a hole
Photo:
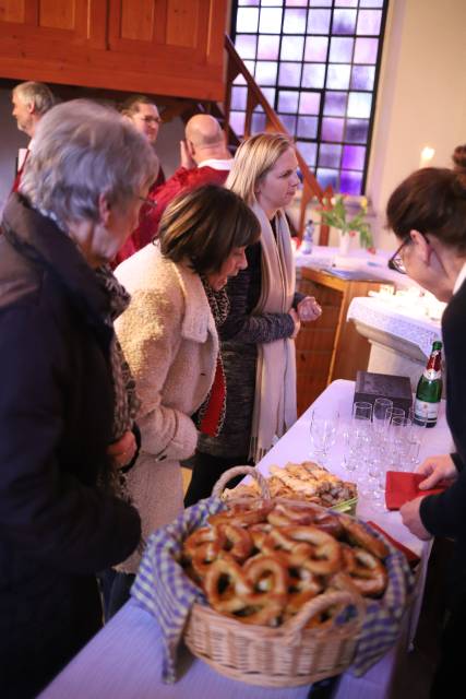
[[[278,211],[276,241],[271,223],[258,203],[252,210],[261,224],[262,286],[253,315],[287,313],[295,295],[295,261],[288,223]],[[255,398],[250,458],[256,463],[296,422],[295,341],[276,340],[258,345]]]

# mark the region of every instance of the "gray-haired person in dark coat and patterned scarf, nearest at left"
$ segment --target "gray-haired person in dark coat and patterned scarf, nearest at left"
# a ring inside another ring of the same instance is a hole
[[[33,697],[100,626],[96,571],[140,541],[113,495],[134,454],[134,402],[112,317],[128,296],[100,265],[138,220],[154,169],[113,110],[53,107],[0,236],[2,696]],[[98,273],[97,273],[98,272]]]

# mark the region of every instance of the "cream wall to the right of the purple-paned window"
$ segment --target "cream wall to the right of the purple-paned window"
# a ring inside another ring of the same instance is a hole
[[[466,1],[391,0],[367,193],[377,213],[377,242],[393,189],[419,167],[425,145],[433,166],[450,167],[466,143]]]

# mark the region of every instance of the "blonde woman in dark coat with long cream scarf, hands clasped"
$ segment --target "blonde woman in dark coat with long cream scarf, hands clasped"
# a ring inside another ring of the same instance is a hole
[[[261,239],[248,269],[228,283],[230,313],[220,329],[227,406],[218,437],[200,440],[186,503],[211,494],[229,466],[255,462],[296,419],[295,343],[300,321],[321,313],[295,293],[295,263],[284,208],[298,187],[291,141],[261,133],[237,151],[226,187],[251,206]]]

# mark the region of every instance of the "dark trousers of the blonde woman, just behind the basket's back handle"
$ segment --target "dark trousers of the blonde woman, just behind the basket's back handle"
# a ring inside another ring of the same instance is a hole
[[[231,469],[231,466],[242,464],[253,465],[251,461],[248,461],[248,457],[223,459],[196,451],[194,454],[191,483],[184,497],[184,507],[190,507],[203,498],[208,498],[212,495],[212,488],[220,475],[228,469]],[[231,478],[228,487],[234,488],[242,478],[243,476]]]

